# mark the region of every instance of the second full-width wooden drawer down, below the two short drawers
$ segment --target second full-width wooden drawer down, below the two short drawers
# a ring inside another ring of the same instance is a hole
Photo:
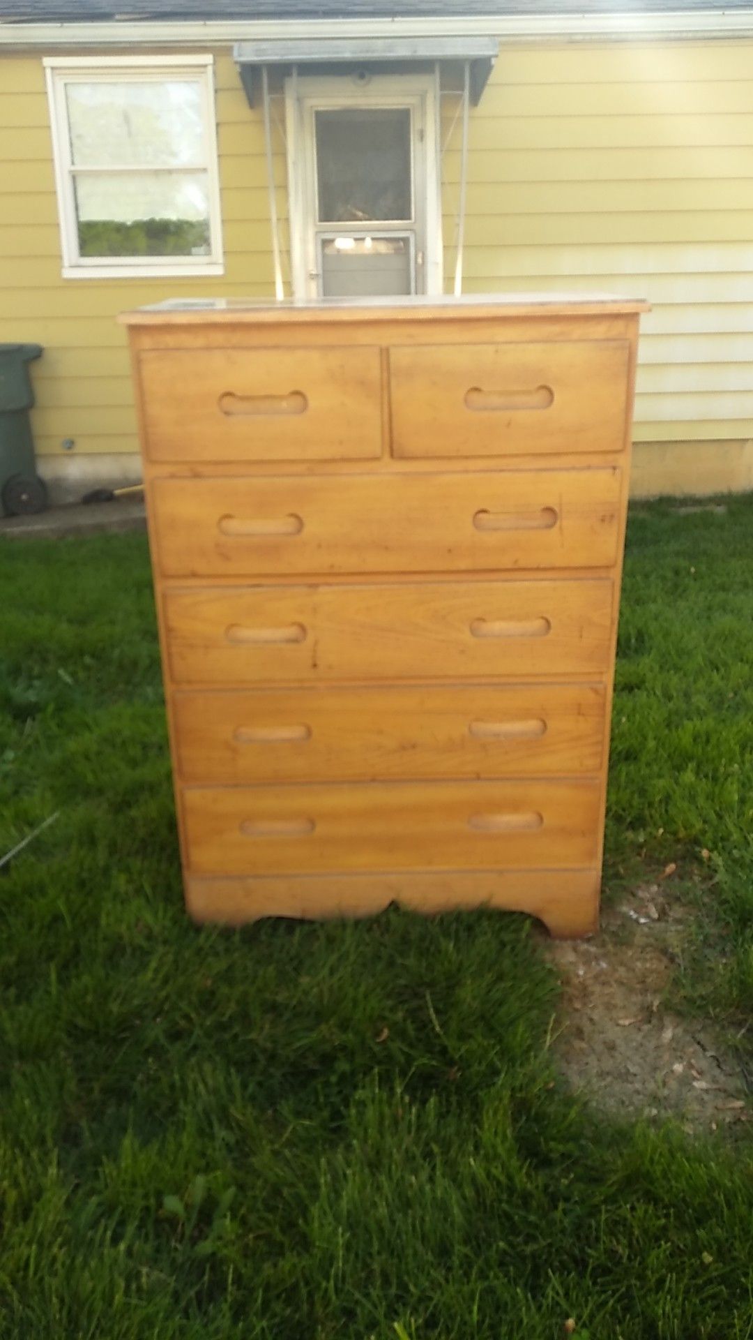
[[[460,679],[603,671],[612,582],[166,590],[176,683]]]

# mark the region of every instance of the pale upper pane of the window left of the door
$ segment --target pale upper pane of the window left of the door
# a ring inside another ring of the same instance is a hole
[[[204,162],[196,80],[67,83],[71,157],[78,168],[180,168]]]

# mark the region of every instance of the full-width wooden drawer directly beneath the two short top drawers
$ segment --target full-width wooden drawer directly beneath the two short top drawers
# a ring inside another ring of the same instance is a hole
[[[620,470],[155,480],[166,576],[608,567]]]

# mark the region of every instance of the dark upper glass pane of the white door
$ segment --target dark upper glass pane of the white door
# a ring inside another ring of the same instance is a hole
[[[410,110],[343,107],[315,121],[319,218],[411,218]]]

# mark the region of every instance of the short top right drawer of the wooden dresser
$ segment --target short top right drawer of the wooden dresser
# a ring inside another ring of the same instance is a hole
[[[393,454],[619,452],[628,367],[627,340],[393,346]]]

